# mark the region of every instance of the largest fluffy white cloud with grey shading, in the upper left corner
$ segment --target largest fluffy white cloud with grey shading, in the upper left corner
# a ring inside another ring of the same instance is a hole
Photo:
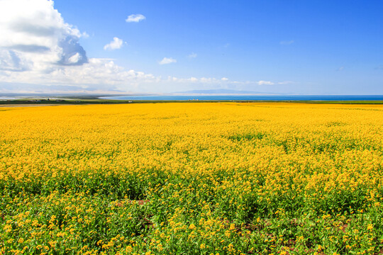
[[[77,28],[47,0],[0,1],[0,69],[50,72],[88,61]]]

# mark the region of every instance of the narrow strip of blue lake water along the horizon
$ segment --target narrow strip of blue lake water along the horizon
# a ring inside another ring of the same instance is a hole
[[[102,96],[109,100],[149,100],[149,101],[383,101],[383,95],[369,96]]]

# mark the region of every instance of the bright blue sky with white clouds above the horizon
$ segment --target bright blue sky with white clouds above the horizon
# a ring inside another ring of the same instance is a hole
[[[0,93],[383,94],[383,1],[0,0]]]

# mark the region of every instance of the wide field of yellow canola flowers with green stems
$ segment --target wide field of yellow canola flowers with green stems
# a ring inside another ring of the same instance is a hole
[[[0,108],[0,254],[382,254],[383,106]]]

